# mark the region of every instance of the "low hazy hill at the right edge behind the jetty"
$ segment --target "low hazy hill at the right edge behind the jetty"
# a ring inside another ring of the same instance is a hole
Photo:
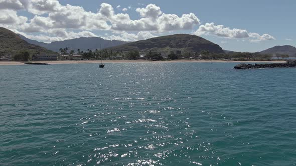
[[[278,54],[287,54],[287,55],[289,55],[289,57],[296,57],[296,47],[291,46],[291,45],[282,45],[282,46],[277,45],[272,48],[268,48],[266,50],[263,50],[259,53],[272,54],[273,56],[275,56],[276,53],[278,53]]]

